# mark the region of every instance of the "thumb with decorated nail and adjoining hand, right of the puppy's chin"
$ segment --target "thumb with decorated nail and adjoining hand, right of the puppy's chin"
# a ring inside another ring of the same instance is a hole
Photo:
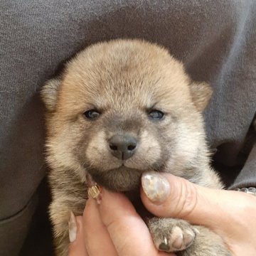
[[[154,181],[154,189],[146,186],[149,180]],[[233,255],[256,255],[255,196],[154,172],[142,176],[142,187],[142,202],[154,215],[206,226],[223,238]]]

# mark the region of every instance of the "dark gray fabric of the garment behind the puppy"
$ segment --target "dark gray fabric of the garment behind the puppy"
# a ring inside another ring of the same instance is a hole
[[[193,79],[210,82],[214,95],[205,116],[208,141],[218,147],[215,161],[224,170],[242,169],[247,156],[240,161],[239,152],[256,110],[255,1],[2,0],[0,8],[0,233],[6,235],[0,251],[10,241],[5,255],[16,255],[11,247],[20,245],[4,223],[28,205],[46,171],[40,87],[60,62],[91,43],[157,42],[185,63]],[[239,186],[256,184],[255,159],[254,150]],[[26,234],[24,223],[28,218],[20,219],[19,238]]]

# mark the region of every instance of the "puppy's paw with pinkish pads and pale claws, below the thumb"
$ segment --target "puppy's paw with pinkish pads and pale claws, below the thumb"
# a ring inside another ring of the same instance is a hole
[[[151,218],[148,225],[154,244],[164,252],[185,250],[196,238],[196,230],[184,220]]]

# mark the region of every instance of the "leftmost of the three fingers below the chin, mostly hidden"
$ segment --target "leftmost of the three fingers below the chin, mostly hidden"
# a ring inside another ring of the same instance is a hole
[[[82,216],[76,217],[78,233],[74,242],[70,242],[68,251],[69,256],[89,256],[85,249],[84,235],[82,230]]]

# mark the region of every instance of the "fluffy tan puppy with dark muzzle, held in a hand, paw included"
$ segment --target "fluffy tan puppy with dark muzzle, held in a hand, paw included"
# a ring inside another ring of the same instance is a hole
[[[81,215],[85,208],[88,174],[111,191],[136,195],[134,202],[144,171],[223,187],[210,168],[203,130],[201,112],[210,95],[209,85],[191,81],[166,49],[138,40],[90,46],[46,83],[56,255],[68,255],[68,220],[71,211]],[[159,250],[230,255],[223,240],[201,226],[155,217],[146,223]]]

